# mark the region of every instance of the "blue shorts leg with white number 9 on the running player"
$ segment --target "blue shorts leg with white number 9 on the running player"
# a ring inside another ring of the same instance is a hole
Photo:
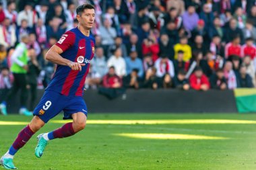
[[[65,105],[65,96],[55,91],[45,91],[33,114],[47,123],[63,110],[63,105]]]

